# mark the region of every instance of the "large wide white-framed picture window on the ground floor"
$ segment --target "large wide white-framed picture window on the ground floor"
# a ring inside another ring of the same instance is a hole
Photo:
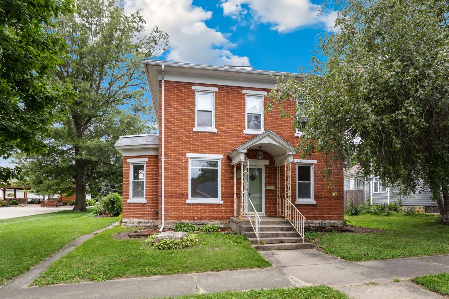
[[[188,204],[223,204],[221,158],[223,155],[187,154],[189,157]]]

